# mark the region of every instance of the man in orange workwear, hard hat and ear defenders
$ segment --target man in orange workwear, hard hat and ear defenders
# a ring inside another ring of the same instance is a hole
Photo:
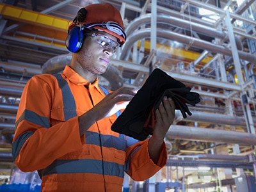
[[[111,131],[116,113],[135,95],[99,86],[124,24],[111,4],[82,8],[70,24],[72,61],[62,74],[32,77],[22,93],[13,138],[13,157],[24,172],[38,170],[42,191],[122,191],[124,172],[145,180],[166,163],[164,136],[175,105],[164,97],[154,134],[140,141]],[[110,93],[109,93],[110,92]]]

